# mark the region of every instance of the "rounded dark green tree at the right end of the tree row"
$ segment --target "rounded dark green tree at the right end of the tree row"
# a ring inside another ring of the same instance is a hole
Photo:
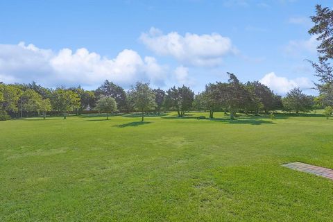
[[[284,110],[298,112],[309,112],[312,110],[314,101],[311,96],[302,93],[300,88],[291,89],[287,96],[282,99]]]

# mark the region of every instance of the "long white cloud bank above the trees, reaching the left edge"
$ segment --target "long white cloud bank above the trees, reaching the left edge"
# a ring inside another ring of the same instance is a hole
[[[61,49],[53,52],[33,44],[0,44],[0,81],[28,83],[33,80],[48,86],[99,85],[112,80],[130,85],[137,80],[163,85],[167,68],[155,58],[142,58],[136,51],[125,49],[116,58],[108,59],[87,49]]]

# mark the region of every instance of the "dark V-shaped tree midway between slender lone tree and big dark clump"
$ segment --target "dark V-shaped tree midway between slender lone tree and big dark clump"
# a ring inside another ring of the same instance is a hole
[[[182,87],[171,87],[167,91],[167,104],[173,108],[176,108],[178,117],[183,117],[194,101],[194,92],[183,85]]]

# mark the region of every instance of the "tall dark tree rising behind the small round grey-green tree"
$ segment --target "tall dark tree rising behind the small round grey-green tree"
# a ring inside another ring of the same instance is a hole
[[[119,111],[126,110],[126,92],[123,87],[105,80],[103,85],[96,89],[95,94],[97,98],[111,96],[116,100]]]

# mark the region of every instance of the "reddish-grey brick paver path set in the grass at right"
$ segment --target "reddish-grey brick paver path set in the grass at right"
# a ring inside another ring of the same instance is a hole
[[[324,178],[328,178],[333,180],[333,169],[328,169],[324,167],[317,167],[310,164],[305,164],[302,162],[291,162],[289,164],[283,164],[283,167],[288,167],[290,169],[294,169],[296,171],[302,171],[306,173],[311,173],[316,176],[322,176]]]

